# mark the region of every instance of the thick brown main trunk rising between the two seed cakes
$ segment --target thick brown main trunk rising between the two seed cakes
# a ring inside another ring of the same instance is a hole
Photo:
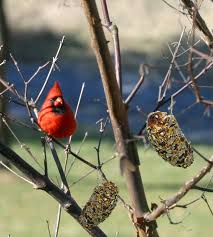
[[[82,0],[82,6],[89,24],[92,48],[95,52],[108,105],[121,170],[126,179],[127,189],[134,210],[134,221],[140,236],[157,237],[156,222],[147,223],[143,215],[149,212],[139,170],[139,157],[132,139],[127,108],[123,103],[116,81],[111,55],[104,35],[95,0]]]

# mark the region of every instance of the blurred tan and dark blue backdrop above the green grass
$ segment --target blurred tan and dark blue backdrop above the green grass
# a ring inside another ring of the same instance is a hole
[[[105,100],[100,75],[90,47],[87,22],[80,2],[78,0],[38,0],[35,3],[33,0],[22,0],[20,4],[7,0],[3,3],[8,28],[9,52],[19,63],[26,78],[31,76],[39,65],[52,59],[60,39],[65,35],[64,46],[58,60],[60,72],[56,70],[52,74],[49,87],[53,81],[59,80],[67,100],[74,108],[81,85],[85,82],[86,87],[78,120],[81,128],[88,128],[89,124],[93,129],[95,122],[105,116],[106,107],[103,106]],[[177,9],[180,7],[177,1],[169,3]],[[191,21],[163,1],[134,0],[134,4],[131,4],[127,0],[117,0],[108,1],[108,7],[111,20],[119,28],[124,98],[139,79],[139,66],[142,63],[155,66],[131,104],[130,123],[134,133],[137,133],[141,123],[146,119],[146,114],[155,107],[159,85],[168,70],[171,60],[168,44],[173,43],[171,47],[174,50],[175,42],[179,40],[183,27],[186,27],[182,46],[187,48],[189,46],[187,34],[191,29]],[[210,1],[205,1],[200,9],[210,29],[213,28],[212,10]],[[101,13],[100,15],[102,17]],[[107,30],[106,35],[113,52],[111,35]],[[199,36],[199,32],[197,35]],[[206,50],[202,40],[198,47]],[[184,60],[187,60],[187,57],[181,57],[179,63],[183,63]],[[20,90],[23,89],[23,83],[10,60],[6,65],[6,73],[7,80],[15,83]],[[32,97],[38,93],[46,74],[47,70],[43,70],[33,81],[30,86]],[[201,84],[211,86],[209,78],[210,74],[201,80]],[[178,71],[173,70],[172,79],[183,83]],[[172,83],[168,95],[180,88],[183,85],[181,83]],[[206,98],[212,99],[211,88],[202,90]],[[190,139],[198,142],[204,139],[205,142],[210,142],[212,133],[209,133],[209,126],[212,128],[213,125],[210,123],[210,117],[203,116],[204,107],[196,105],[185,113],[181,112],[193,102],[193,91],[186,90],[181,98],[177,99],[174,113]],[[167,104],[162,109],[167,110],[168,106]],[[21,110],[16,112],[23,115]]]

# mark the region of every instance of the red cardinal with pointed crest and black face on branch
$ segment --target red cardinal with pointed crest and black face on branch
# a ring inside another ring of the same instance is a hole
[[[70,106],[64,101],[58,82],[50,89],[38,114],[38,124],[48,135],[64,138],[72,135],[77,123]]]

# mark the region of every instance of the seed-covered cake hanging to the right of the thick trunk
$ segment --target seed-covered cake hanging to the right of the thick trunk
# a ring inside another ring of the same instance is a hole
[[[182,168],[193,163],[191,144],[182,133],[174,115],[160,111],[150,113],[146,129],[150,143],[165,161]]]

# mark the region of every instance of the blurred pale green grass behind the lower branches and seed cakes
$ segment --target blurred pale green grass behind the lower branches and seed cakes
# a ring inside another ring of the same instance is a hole
[[[81,156],[89,161],[96,162],[96,151],[94,149],[98,144],[98,139],[90,139],[85,142],[81,149]],[[42,164],[42,149],[37,141],[26,143],[39,162]],[[73,150],[77,151],[80,142],[73,142]],[[38,168],[31,160],[27,153],[18,145],[13,145],[16,152],[24,157],[27,161]],[[206,145],[197,145],[197,149],[207,157],[213,153],[213,148]],[[64,152],[58,148],[59,156],[64,161]],[[101,145],[101,159],[106,161],[115,152],[115,147],[110,139],[103,139]],[[49,153],[48,153],[49,154]],[[151,148],[145,148],[139,143],[139,155],[141,161],[141,174],[147,194],[149,205],[152,202],[159,203],[160,198],[167,198],[178,190],[184,181],[192,177],[205,164],[197,155],[195,155],[194,164],[188,169],[180,169],[171,167],[169,164],[160,159]],[[50,155],[49,159],[49,175],[57,182],[57,170]],[[72,160],[72,158],[71,158]],[[38,170],[40,170],[38,168]],[[79,205],[83,205],[89,199],[93,188],[100,182],[97,172],[93,172],[85,179],[75,183],[83,174],[90,171],[79,161],[76,161],[68,176],[71,184],[71,192],[73,197],[78,201]],[[119,186],[120,195],[129,203],[127,190],[123,177],[120,175],[118,159],[114,159],[104,165],[104,171],[109,179]],[[201,183],[206,185],[210,179],[210,175]],[[8,172],[0,173],[0,236],[12,237],[37,237],[48,236],[46,220],[49,221],[50,229],[53,234],[54,224],[56,221],[57,203],[46,193],[34,190],[29,184],[20,180],[13,174]],[[201,192],[191,191],[186,198],[180,203],[184,204],[199,197]],[[212,194],[207,194],[209,204],[213,206]],[[166,216],[158,219],[158,231],[160,236],[173,237],[209,237],[212,233],[212,216],[206,204],[202,199],[188,209],[175,209],[171,212],[173,221],[183,220],[181,224],[171,225]],[[118,203],[116,209],[111,216],[102,224],[100,228],[108,236],[135,236],[133,225],[129,219],[126,209],[121,203]],[[70,217],[63,212],[60,235],[63,237],[71,236],[88,236],[88,234]]]

